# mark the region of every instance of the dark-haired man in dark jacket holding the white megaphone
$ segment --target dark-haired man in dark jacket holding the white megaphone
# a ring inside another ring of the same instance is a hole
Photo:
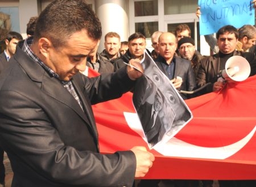
[[[226,61],[232,56],[242,56],[247,59],[251,66],[251,74],[255,74],[255,57],[253,53],[239,52],[236,50],[238,41],[237,28],[232,25],[225,25],[217,32],[217,45],[219,52],[213,56],[203,58],[200,61],[199,70],[196,76],[197,87],[205,88],[200,94],[207,94],[212,91],[221,90],[225,82],[217,81],[221,70],[225,70]]]

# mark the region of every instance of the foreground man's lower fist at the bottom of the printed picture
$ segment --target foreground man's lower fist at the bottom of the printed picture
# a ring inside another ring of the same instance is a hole
[[[144,177],[148,169],[152,167],[155,156],[151,152],[148,152],[146,147],[133,147],[131,151],[133,151],[136,156],[137,164],[135,177]]]

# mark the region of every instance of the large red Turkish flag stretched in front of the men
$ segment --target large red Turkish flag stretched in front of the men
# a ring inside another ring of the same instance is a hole
[[[193,119],[162,148],[150,150],[155,162],[144,179],[256,179],[255,95],[256,75],[185,100]],[[126,113],[136,115],[130,92],[93,105],[93,112],[102,153],[147,147],[127,122]]]

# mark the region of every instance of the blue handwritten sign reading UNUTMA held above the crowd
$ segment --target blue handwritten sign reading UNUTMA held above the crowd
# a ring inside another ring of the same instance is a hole
[[[251,0],[199,0],[200,35],[217,32],[224,25],[236,28],[255,24],[255,10]]]

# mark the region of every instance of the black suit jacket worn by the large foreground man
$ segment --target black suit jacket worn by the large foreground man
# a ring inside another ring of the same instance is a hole
[[[98,153],[91,104],[121,96],[134,82],[126,69],[96,78],[77,74],[72,82],[84,111],[19,47],[0,75],[0,146],[14,171],[13,187],[133,184],[133,152]]]

